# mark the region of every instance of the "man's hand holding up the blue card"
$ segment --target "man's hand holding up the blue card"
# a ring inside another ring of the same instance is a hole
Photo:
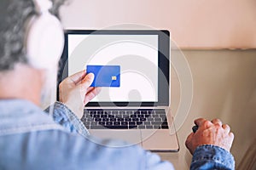
[[[60,83],[60,101],[79,118],[83,116],[84,105],[100,92],[100,88],[90,87],[93,79],[92,73],[86,75],[86,71],[80,71]]]

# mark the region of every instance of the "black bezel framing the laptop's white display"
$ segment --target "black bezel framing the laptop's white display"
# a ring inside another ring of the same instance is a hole
[[[157,102],[89,102],[86,106],[154,106],[169,105],[170,32],[166,30],[66,30],[65,45],[59,63],[58,84],[68,76],[68,35],[157,35],[158,101]],[[165,83],[161,83],[165,82]],[[59,89],[57,90],[59,96]]]

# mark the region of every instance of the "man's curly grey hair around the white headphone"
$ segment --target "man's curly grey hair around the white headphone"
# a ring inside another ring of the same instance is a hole
[[[59,17],[65,0],[52,0],[50,12]],[[15,64],[27,64],[24,50],[26,20],[36,14],[32,0],[1,0],[0,3],[0,71],[13,70]]]

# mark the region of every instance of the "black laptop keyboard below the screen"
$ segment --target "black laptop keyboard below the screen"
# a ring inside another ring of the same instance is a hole
[[[82,122],[88,129],[166,129],[166,111],[157,110],[84,110]]]

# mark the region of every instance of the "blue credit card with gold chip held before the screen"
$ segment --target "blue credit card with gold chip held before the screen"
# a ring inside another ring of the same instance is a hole
[[[95,76],[90,87],[120,87],[119,65],[87,65],[86,72]]]

